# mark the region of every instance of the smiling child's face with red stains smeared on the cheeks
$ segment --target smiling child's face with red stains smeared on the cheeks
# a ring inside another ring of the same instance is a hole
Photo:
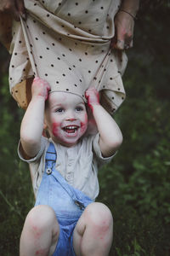
[[[80,96],[53,92],[48,96],[45,121],[50,137],[66,147],[77,144],[88,127],[88,114]]]

